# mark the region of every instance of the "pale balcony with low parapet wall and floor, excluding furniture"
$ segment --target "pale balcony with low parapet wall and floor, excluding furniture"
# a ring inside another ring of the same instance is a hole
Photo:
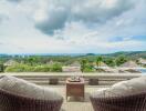
[[[17,78],[24,79],[27,81],[40,84],[44,88],[51,88],[59,92],[63,97],[62,111],[93,111],[93,107],[90,101],[90,93],[109,88],[112,84],[128,80],[132,78],[140,77],[142,73],[1,73],[14,75]],[[70,97],[66,100],[66,87],[65,80],[69,77],[79,75],[85,79],[84,99]],[[56,79],[58,84],[50,84],[51,79]],[[97,80],[97,84],[91,85],[91,80]]]

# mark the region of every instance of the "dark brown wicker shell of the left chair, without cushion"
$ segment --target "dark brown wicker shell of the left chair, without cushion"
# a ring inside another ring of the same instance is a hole
[[[60,111],[62,102],[63,98],[35,99],[0,88],[0,111]]]

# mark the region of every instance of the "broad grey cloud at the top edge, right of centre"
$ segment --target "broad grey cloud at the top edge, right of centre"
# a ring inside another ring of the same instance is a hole
[[[133,8],[131,0],[86,0],[72,8],[75,19],[85,22],[106,22]]]

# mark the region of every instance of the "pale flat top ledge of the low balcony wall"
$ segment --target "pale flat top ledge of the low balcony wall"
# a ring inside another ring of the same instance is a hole
[[[7,74],[7,75],[14,75],[14,77],[41,77],[41,78],[67,78],[72,75],[79,75],[79,77],[84,77],[84,78],[125,78],[125,79],[131,79],[131,78],[136,78],[140,75],[146,75],[146,73],[82,73],[82,72],[21,72],[21,73],[0,73],[1,75]]]

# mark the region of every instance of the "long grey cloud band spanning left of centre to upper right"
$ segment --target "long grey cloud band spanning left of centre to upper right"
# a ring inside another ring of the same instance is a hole
[[[52,34],[66,23],[105,23],[134,7],[133,0],[42,0],[34,14],[35,27]]]

